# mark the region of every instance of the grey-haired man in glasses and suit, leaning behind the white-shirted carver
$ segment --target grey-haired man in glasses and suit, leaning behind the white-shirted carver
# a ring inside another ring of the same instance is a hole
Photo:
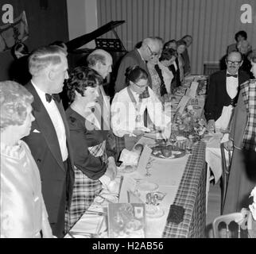
[[[140,48],[134,48],[122,58],[121,64],[118,68],[118,75],[115,81],[115,93],[126,87],[126,69],[127,67],[138,65],[142,67],[149,75],[149,87],[152,87],[152,80],[149,74],[146,62],[149,59],[161,54],[160,44],[157,38],[149,37],[142,41]]]

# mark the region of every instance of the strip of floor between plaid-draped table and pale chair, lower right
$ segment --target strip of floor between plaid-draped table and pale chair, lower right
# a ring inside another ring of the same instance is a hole
[[[211,183],[208,194],[208,213],[206,214],[205,236],[212,238],[211,222],[220,215],[220,187],[219,183]]]

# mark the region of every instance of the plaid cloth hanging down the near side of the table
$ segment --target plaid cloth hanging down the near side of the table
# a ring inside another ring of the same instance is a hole
[[[176,206],[184,207],[183,221],[179,224],[166,221],[163,238],[204,238],[205,147],[206,144],[200,141],[193,149],[173,202]]]

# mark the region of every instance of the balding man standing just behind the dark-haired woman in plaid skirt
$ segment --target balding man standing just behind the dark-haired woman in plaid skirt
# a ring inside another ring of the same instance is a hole
[[[87,56],[87,65],[97,71],[99,75],[106,79],[112,71],[112,56],[103,49],[96,49]],[[111,131],[111,103],[103,88],[103,82],[99,84],[98,108],[95,109],[95,117],[101,122],[101,129],[105,131],[107,137],[107,152],[112,151],[108,156],[116,156],[114,134]]]

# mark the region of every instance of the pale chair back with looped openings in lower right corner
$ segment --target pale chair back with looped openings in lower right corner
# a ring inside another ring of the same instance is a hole
[[[230,224],[232,221],[235,221],[235,223],[237,224],[237,229],[238,229],[238,234],[237,237],[241,238],[241,229],[247,229],[247,218],[248,218],[248,213],[245,214],[244,220],[242,221],[242,224],[239,225],[239,223],[237,223],[236,221],[241,221],[243,215],[242,213],[232,213],[232,214],[225,214],[225,215],[221,215],[219,217],[215,217],[215,220],[212,222],[212,229],[213,229],[213,237],[214,238],[220,238],[220,234],[219,234],[219,224],[220,223],[225,223],[226,224],[226,238],[230,238],[231,237],[231,232],[232,232],[232,236],[234,236],[234,232],[236,230],[230,230]],[[223,237],[223,234],[222,234]]]

